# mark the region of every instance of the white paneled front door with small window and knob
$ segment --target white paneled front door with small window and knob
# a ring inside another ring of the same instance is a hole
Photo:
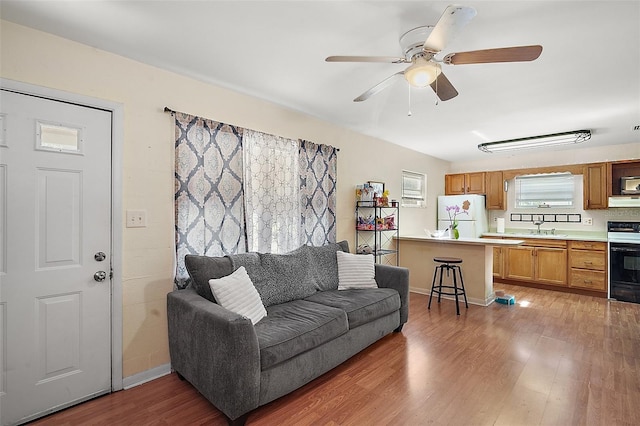
[[[7,425],[111,390],[111,113],[6,90],[0,108]]]

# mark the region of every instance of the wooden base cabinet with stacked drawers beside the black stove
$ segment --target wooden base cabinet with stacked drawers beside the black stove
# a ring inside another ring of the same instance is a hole
[[[607,291],[607,243],[569,242],[569,287]]]

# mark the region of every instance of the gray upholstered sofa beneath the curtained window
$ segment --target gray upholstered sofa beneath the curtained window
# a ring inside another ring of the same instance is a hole
[[[337,290],[338,250],[348,252],[347,242],[282,255],[185,257],[191,285],[167,296],[171,365],[230,424],[402,330],[409,271],[376,264],[378,288]],[[255,325],[216,304],[209,287],[239,265],[267,310]]]

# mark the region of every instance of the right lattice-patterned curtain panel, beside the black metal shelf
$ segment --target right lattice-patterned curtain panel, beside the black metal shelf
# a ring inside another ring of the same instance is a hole
[[[301,244],[335,243],[338,150],[304,140],[299,144]]]

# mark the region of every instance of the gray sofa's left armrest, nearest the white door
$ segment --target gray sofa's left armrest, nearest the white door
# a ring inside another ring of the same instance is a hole
[[[258,406],[260,350],[251,320],[194,290],[167,295],[172,368],[234,420]]]

